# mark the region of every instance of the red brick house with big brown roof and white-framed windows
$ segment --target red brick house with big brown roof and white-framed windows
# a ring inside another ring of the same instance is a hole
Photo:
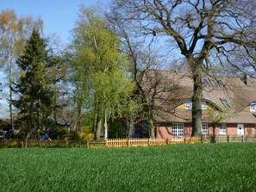
[[[202,83],[202,134],[255,136],[256,79],[203,76]],[[156,137],[189,137],[193,93],[190,74],[146,70],[140,74],[140,84],[153,104]],[[147,136],[145,125],[141,121],[134,134]]]

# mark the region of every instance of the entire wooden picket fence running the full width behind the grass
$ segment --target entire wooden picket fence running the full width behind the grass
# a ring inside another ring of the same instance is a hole
[[[106,140],[68,140],[54,139],[52,142],[41,142],[38,139],[0,139],[0,148],[17,147],[55,147],[55,148],[99,148],[99,147],[131,147],[131,146],[165,146],[172,144],[199,144],[209,142],[255,142],[254,135],[218,135],[215,140],[211,136],[172,137],[169,139],[133,138]]]

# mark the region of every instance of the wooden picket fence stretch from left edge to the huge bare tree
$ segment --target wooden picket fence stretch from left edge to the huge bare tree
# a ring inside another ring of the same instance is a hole
[[[16,147],[68,147],[68,148],[99,148],[99,147],[131,147],[131,146],[165,146],[171,144],[194,144],[202,143],[202,138],[198,137],[178,137],[170,139],[106,139],[106,140],[68,140],[56,139],[53,141],[41,142],[38,139],[0,139],[0,148]]]

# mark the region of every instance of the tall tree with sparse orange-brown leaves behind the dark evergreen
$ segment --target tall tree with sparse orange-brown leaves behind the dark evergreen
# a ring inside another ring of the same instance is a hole
[[[13,91],[12,82],[17,77],[16,63],[18,55],[22,52],[31,28],[37,26],[41,28],[42,20],[34,20],[32,17],[18,17],[12,9],[5,9],[0,12],[0,67],[6,67],[9,84],[9,118],[14,129],[13,123]]]

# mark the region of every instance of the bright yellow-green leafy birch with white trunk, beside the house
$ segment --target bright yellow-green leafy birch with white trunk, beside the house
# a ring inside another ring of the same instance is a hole
[[[72,81],[78,110],[94,114],[95,139],[104,125],[104,138],[110,118],[122,115],[122,103],[132,88],[126,71],[126,58],[118,51],[120,41],[97,9],[81,7],[77,28],[73,30]]]

